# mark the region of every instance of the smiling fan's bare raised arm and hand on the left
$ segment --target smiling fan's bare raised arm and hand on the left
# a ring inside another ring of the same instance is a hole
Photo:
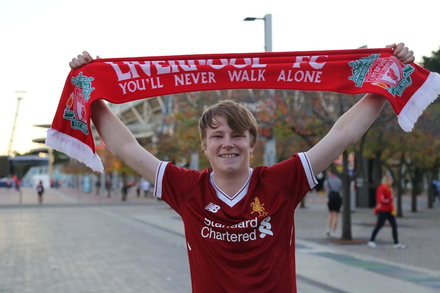
[[[97,57],[99,58],[99,57]],[[90,63],[93,58],[87,51],[72,59],[69,66],[74,69]],[[111,153],[150,182],[155,182],[159,160],[136,141],[131,131],[111,112],[104,100],[95,100],[91,105],[91,119],[101,139]]]

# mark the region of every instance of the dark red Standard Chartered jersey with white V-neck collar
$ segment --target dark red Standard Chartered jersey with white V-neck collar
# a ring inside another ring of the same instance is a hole
[[[161,162],[155,195],[183,219],[192,292],[296,292],[294,211],[316,184],[306,153],[250,168],[232,197],[209,169]]]

